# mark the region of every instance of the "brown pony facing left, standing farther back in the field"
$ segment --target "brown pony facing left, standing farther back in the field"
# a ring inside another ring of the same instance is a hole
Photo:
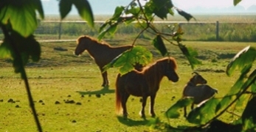
[[[98,67],[100,67],[103,76],[103,87],[108,86],[108,73],[103,73],[103,67],[111,62],[112,59],[132,48],[131,45],[120,47],[111,47],[108,43],[100,43],[96,39],[89,36],[81,36],[77,39],[77,47],[75,48],[75,55],[80,55],[83,51],[88,51],[89,55],[94,59]]]

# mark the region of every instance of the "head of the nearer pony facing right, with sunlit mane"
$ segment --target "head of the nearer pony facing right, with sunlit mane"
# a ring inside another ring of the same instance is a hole
[[[170,81],[173,81],[173,82],[179,81],[179,76],[176,73],[176,69],[177,69],[176,60],[172,57],[166,57],[160,61],[162,61],[162,63],[163,63],[163,67],[165,70],[165,76],[167,76],[167,78]]]

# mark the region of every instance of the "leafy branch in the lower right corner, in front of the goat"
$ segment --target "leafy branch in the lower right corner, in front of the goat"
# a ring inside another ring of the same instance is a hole
[[[209,129],[212,122],[218,120],[218,117],[221,117],[231,106],[246,105],[240,119],[230,125],[234,125],[234,127],[236,125],[243,126],[241,130],[236,131],[255,131],[256,115],[255,112],[249,112],[252,111],[251,109],[256,110],[255,104],[252,103],[256,97],[254,94],[256,92],[256,70],[250,72],[256,59],[255,53],[256,49],[248,46],[240,51],[227,65],[226,74],[228,76],[231,76],[235,70],[240,71],[241,76],[223,98],[211,98],[204,105],[190,111],[187,121],[197,124],[193,128]],[[249,100],[249,102],[245,100]],[[179,110],[191,103],[190,99],[181,99],[171,106],[165,114],[168,118],[179,118]]]

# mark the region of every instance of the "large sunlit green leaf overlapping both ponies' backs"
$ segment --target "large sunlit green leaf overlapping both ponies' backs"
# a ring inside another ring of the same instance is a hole
[[[117,56],[108,65],[104,66],[104,70],[108,70],[110,67],[117,67],[120,70],[120,74],[123,75],[134,69],[134,65],[139,63],[140,65],[148,65],[152,60],[152,54],[146,48],[136,46],[129,51]]]

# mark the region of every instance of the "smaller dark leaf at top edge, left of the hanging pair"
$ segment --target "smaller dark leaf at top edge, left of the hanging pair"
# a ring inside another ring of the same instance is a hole
[[[70,0],[60,0],[60,18],[66,18],[66,15],[69,14],[72,9],[72,1]]]

